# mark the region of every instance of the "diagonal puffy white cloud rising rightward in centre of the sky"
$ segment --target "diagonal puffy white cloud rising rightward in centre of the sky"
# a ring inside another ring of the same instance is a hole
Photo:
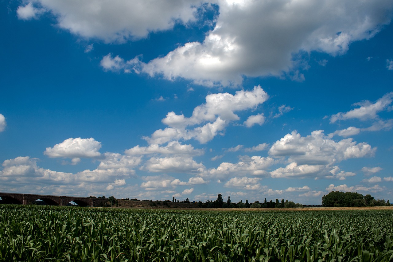
[[[162,120],[168,127],[158,129],[150,137],[144,137],[149,144],[163,144],[171,140],[196,139],[204,144],[224,131],[231,121],[240,117],[235,111],[254,109],[268,99],[268,94],[255,86],[253,90],[239,90],[229,93],[209,94],[206,103],[195,107],[191,117],[169,112]],[[192,128],[193,126],[196,126]],[[191,127],[191,128],[188,128]]]

